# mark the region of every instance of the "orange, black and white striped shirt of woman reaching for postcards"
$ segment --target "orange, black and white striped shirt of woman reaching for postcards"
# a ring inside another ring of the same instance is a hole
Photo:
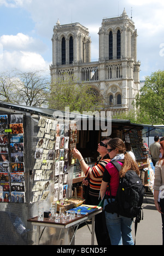
[[[89,195],[99,196],[104,170],[109,162],[110,159],[103,159],[92,168],[87,169],[85,176],[90,179]]]

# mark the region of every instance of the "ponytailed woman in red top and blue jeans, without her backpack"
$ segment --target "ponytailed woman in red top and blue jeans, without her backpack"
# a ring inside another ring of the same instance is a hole
[[[108,201],[115,201],[115,196],[119,187],[120,178],[125,176],[128,170],[134,170],[139,175],[139,168],[137,162],[134,161],[130,154],[126,152],[125,144],[120,138],[111,139],[108,142],[108,154],[109,158],[116,160],[122,166],[120,172],[116,167],[109,162],[106,165],[104,176],[101,184],[101,198],[105,195],[104,208],[108,205]],[[107,190],[107,186],[110,186],[110,191]],[[111,195],[110,195],[111,192]],[[107,200],[108,198],[108,200]],[[112,198],[112,199],[111,199]],[[109,232],[109,237],[112,245],[134,245],[131,235],[131,226],[133,220],[123,216],[118,216],[118,213],[106,214],[106,223]]]

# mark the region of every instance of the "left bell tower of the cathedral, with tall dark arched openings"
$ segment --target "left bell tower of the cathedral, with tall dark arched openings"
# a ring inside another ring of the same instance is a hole
[[[52,67],[91,61],[89,31],[79,23],[61,25],[57,20],[52,36]]]

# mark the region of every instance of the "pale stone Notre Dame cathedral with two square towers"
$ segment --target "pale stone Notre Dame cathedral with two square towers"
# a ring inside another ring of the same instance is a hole
[[[102,94],[112,115],[128,112],[140,86],[134,22],[124,9],[121,16],[103,19],[98,35],[99,60],[91,62],[89,30],[58,20],[52,36],[51,79],[69,74]]]

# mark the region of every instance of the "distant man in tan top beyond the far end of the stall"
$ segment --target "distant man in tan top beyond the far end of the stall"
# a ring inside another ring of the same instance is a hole
[[[151,155],[151,161],[153,162],[153,165],[155,166],[156,162],[160,159],[160,144],[159,144],[160,138],[159,136],[154,137],[154,143],[150,145],[149,147],[149,155]]]

